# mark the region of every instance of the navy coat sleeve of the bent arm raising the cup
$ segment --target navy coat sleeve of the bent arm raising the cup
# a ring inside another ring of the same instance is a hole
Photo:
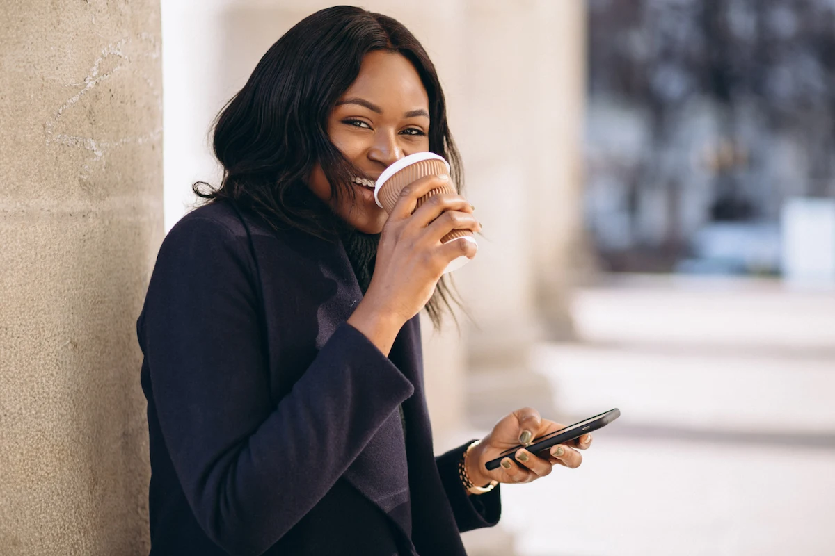
[[[245,236],[210,218],[181,221],[160,248],[138,323],[185,497],[205,533],[233,555],[276,543],[413,391],[342,323],[291,392],[271,403],[251,264]]]

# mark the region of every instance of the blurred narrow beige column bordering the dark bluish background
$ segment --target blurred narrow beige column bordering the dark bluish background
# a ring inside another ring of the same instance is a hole
[[[527,107],[536,191],[534,296],[549,339],[574,337],[570,294],[589,263],[583,242],[583,128],[586,96],[584,2],[537,0],[530,19],[532,96]]]

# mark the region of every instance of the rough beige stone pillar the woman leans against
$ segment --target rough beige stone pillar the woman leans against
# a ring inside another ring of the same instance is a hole
[[[163,233],[159,3],[5,3],[0,553],[147,554],[135,319]]]

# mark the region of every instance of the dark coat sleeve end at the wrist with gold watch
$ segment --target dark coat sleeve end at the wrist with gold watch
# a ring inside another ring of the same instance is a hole
[[[472,442],[473,440],[435,458],[443,489],[447,493],[449,504],[455,515],[455,523],[458,524],[458,531],[461,533],[482,527],[493,527],[502,514],[502,498],[499,493],[501,485],[496,485],[496,488],[486,494],[470,495],[464,489],[461,479],[458,478],[458,461]]]

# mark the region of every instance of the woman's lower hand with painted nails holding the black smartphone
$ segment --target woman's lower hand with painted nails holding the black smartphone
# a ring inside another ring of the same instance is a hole
[[[519,444],[527,446],[535,438],[553,433],[560,428],[564,428],[564,425],[539,417],[539,412],[533,408],[522,408],[510,413],[496,423],[493,431],[468,453],[466,466],[470,480],[478,487],[485,486],[493,480],[499,483],[530,483],[551,473],[554,465],[579,467],[583,462],[583,454],[578,450],[589,448],[590,434],[584,434],[567,444],[552,446],[547,458],[540,458],[525,448],[519,448],[516,451],[516,460],[519,463],[514,463],[510,458],[503,458],[502,464],[493,471],[484,467],[485,463],[498,458],[509,448]]]

